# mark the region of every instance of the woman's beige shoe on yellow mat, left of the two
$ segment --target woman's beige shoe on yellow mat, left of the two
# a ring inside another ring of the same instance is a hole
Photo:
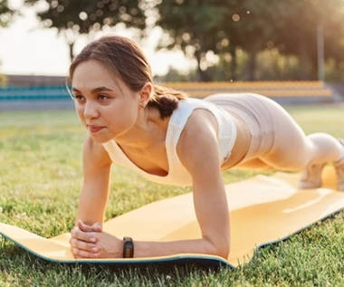
[[[300,189],[310,189],[321,187],[321,173],[325,167],[324,164],[311,164],[301,173],[301,180],[299,181]]]

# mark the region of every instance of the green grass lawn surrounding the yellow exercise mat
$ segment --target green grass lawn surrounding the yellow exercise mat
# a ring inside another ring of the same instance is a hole
[[[291,107],[307,132],[344,137],[343,107]],[[51,237],[72,229],[85,130],[73,111],[0,112],[0,222]],[[230,183],[256,172],[226,171]],[[106,219],[190,192],[114,167]],[[3,286],[344,286],[344,212],[219,272],[194,267],[117,270],[47,263],[0,239]]]

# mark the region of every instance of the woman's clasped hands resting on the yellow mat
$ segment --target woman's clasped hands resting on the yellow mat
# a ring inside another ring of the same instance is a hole
[[[70,244],[74,258],[122,257],[123,242],[118,237],[103,232],[99,223],[89,226],[79,220],[71,235]]]

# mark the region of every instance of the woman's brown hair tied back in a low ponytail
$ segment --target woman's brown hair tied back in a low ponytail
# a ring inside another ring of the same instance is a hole
[[[89,43],[71,64],[69,80],[79,63],[96,60],[108,67],[110,72],[123,81],[130,90],[139,91],[147,82],[151,82],[154,92],[148,106],[160,112],[161,119],[169,117],[177,109],[179,100],[187,98],[186,93],[154,84],[150,65],[138,43],[121,36],[104,36]]]

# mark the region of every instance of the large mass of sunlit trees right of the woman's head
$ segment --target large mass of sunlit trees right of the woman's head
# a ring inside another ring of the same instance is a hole
[[[327,58],[343,57],[343,5],[341,0],[174,0],[156,8],[157,24],[170,35],[161,45],[186,53],[194,46],[200,79],[206,81],[209,74],[200,66],[205,54],[230,53],[233,77],[237,46],[248,54],[245,80],[255,78],[256,55],[266,48],[298,55],[300,78],[314,78],[318,25],[325,29]]]

